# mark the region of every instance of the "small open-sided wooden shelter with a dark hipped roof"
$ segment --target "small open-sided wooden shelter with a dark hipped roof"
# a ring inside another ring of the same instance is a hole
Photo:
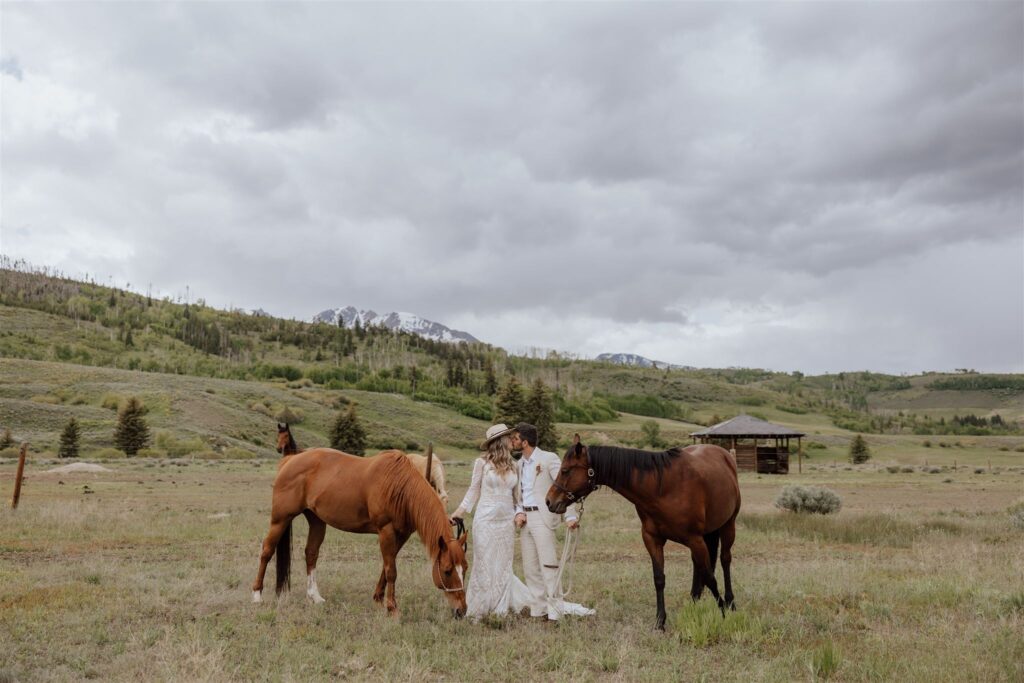
[[[806,434],[782,425],[772,424],[749,415],[738,415],[713,427],[690,434],[693,441],[714,443],[736,458],[740,472],[787,474],[790,472],[790,439],[797,439],[797,467],[803,469],[803,441]]]

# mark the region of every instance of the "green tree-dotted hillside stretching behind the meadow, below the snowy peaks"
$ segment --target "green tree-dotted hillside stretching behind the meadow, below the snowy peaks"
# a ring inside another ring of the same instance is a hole
[[[826,450],[854,432],[880,441],[948,435],[1016,446],[1024,423],[1019,375],[811,377],[529,358],[486,344],[158,301],[5,264],[0,429],[50,451],[72,415],[86,452],[111,446],[118,402],[137,395],[158,454],[269,456],[273,423],[283,416],[300,420],[300,445],[323,444],[333,416],[354,401],[371,447],[419,450],[433,441],[468,455],[494,414],[496,387],[511,376],[547,385],[563,437],[583,431],[637,445],[646,420],[678,443],[699,425],[739,413],[804,430]]]

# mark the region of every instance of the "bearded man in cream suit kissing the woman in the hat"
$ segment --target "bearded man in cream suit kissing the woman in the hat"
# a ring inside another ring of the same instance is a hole
[[[555,528],[558,515],[548,511],[544,498],[558,476],[561,461],[553,453],[537,447],[537,427],[525,422],[512,432],[512,447],[522,451],[516,464],[519,473],[520,500],[523,512],[515,517],[522,549],[522,569],[530,593],[530,616],[558,621],[562,615],[562,594],[558,585],[558,553]],[[565,510],[565,525],[577,528],[579,517],[574,506]]]

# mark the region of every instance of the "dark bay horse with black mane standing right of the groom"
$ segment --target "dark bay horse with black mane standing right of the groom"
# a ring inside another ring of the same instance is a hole
[[[643,544],[654,570],[658,629],[665,630],[666,541],[690,549],[693,600],[700,598],[707,586],[722,616],[726,606],[736,608],[730,566],[739,514],[739,480],[736,463],[728,451],[710,443],[660,453],[602,445],[588,447],[577,434],[545,503],[551,512],[562,514],[570,503],[582,501],[601,485],[636,507]],[[715,581],[720,544],[724,599]]]

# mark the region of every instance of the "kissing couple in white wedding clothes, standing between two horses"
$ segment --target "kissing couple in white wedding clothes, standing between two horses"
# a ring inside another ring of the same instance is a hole
[[[473,620],[487,614],[519,613],[558,621],[562,614],[587,615],[594,610],[562,600],[559,553],[555,539],[558,515],[548,511],[544,498],[558,476],[561,461],[537,447],[537,428],[519,423],[487,429],[483,453],[473,463],[466,497],[452,514],[473,515],[473,565],[466,588],[466,613]],[[513,451],[521,451],[516,462]],[[568,528],[579,526],[574,506],[565,511]],[[515,529],[520,528],[523,573],[512,571]]]

